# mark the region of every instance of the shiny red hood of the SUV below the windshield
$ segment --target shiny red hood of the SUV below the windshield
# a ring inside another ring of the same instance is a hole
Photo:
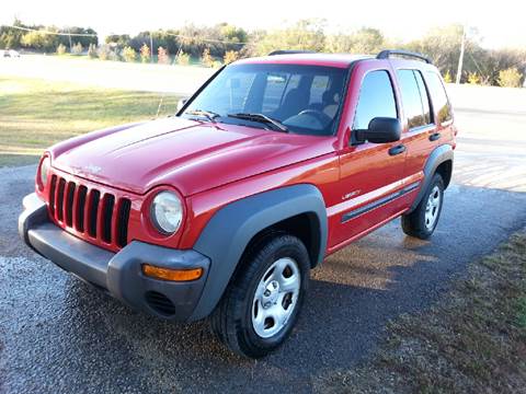
[[[333,151],[332,138],[170,117],[96,131],[52,149],[53,166],[145,194],[172,185],[184,196]]]

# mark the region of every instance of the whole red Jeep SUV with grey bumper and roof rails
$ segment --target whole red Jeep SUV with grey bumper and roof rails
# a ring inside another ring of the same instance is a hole
[[[230,349],[262,357],[324,257],[398,217],[433,233],[455,135],[421,55],[279,51],[221,68],[175,116],[48,149],[19,230],[129,306],[209,316]]]

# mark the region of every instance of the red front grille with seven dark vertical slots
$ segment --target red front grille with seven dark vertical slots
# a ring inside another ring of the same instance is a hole
[[[48,200],[49,215],[65,230],[113,248],[126,246],[129,198],[54,174]]]

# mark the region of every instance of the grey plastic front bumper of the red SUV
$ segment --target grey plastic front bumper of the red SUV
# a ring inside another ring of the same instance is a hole
[[[172,250],[140,241],[113,253],[55,225],[36,194],[27,195],[23,204],[19,233],[36,253],[135,310],[167,320],[190,320],[209,271],[208,257],[192,250]],[[186,282],[152,279],[141,273],[146,263],[172,269],[203,268],[204,275]]]

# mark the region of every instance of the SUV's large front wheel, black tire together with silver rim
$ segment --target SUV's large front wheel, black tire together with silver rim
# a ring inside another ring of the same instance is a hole
[[[267,239],[240,262],[214,311],[214,333],[233,352],[260,358],[289,336],[308,288],[310,259],[296,236]]]

